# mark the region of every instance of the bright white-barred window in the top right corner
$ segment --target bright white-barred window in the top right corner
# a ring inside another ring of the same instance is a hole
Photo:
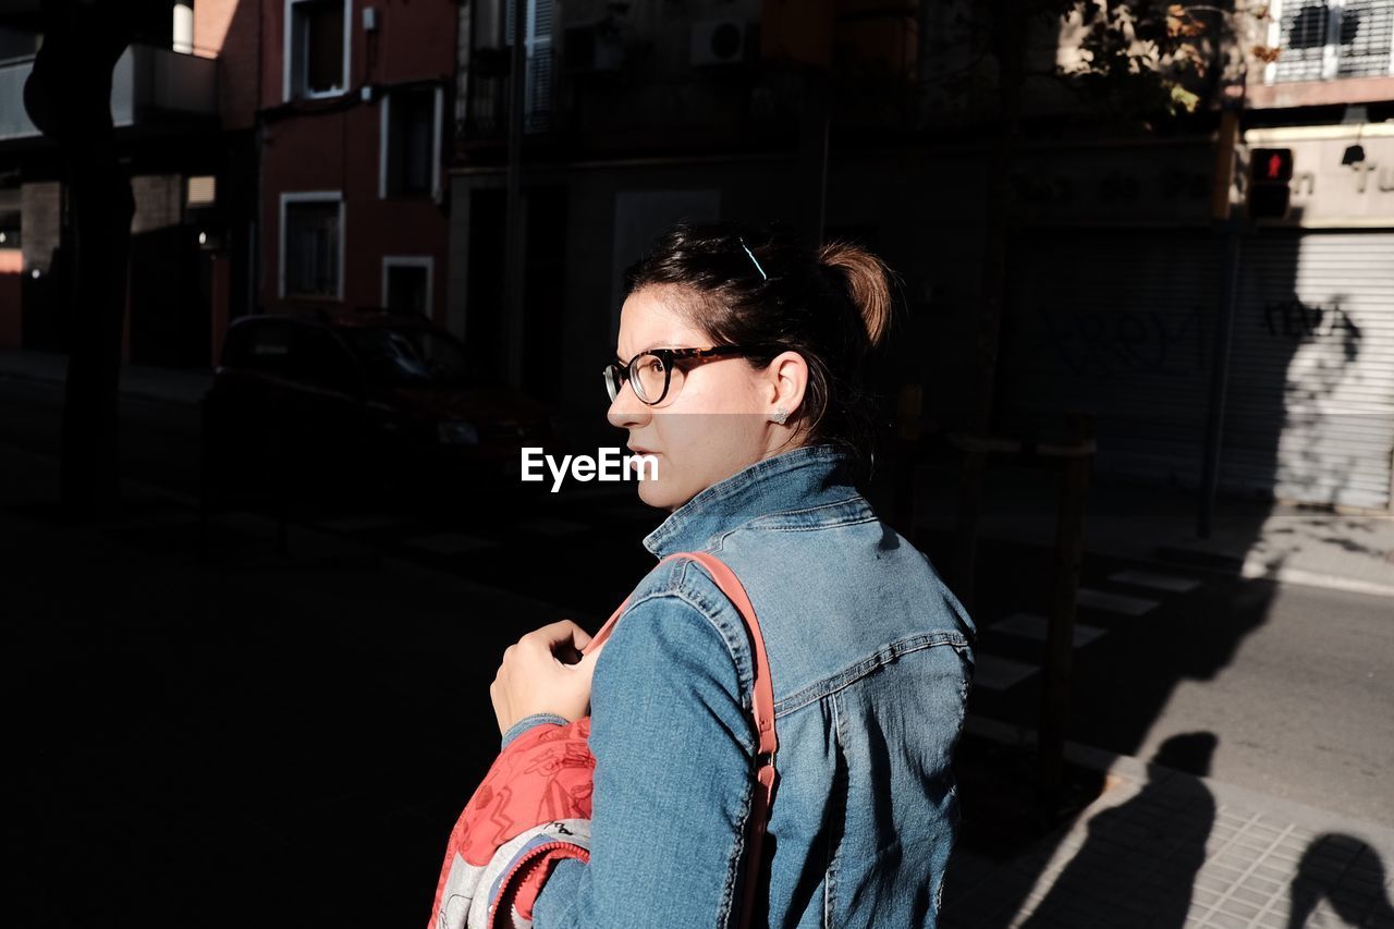
[[[1270,84],[1391,73],[1394,0],[1282,0],[1270,28]]]

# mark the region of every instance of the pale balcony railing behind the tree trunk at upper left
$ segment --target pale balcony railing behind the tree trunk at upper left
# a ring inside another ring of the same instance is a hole
[[[24,109],[24,82],[33,59],[0,63],[0,141],[39,130]],[[117,127],[158,126],[217,116],[217,60],[151,45],[132,45],[112,73],[112,120]]]

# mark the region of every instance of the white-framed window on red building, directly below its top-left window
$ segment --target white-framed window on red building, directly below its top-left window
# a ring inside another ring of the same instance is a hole
[[[343,195],[282,194],[280,296],[343,297]]]

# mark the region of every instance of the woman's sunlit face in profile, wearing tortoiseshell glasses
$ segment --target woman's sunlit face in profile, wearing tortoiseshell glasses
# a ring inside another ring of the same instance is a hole
[[[622,363],[650,349],[712,346],[679,312],[683,297],[671,285],[629,296],[619,318]],[[658,478],[638,483],[638,497],[650,506],[677,509],[717,481],[795,446],[795,410],[807,384],[802,356],[786,352],[763,371],[739,356],[677,361],[673,368],[658,406],[643,403],[626,381],[609,407],[611,424],[629,430],[629,448],[658,462]],[[789,411],[789,425],[771,420],[776,409]]]

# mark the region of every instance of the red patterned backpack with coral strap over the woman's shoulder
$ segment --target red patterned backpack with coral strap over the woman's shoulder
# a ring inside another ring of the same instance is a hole
[[[758,735],[756,794],[747,824],[744,902],[740,925],[750,919],[760,877],[760,847],[775,790],[774,688],[765,643],[740,580],[708,552],[680,552],[703,565],[735,604],[750,629],[754,723]],[[659,562],[662,564],[662,562]],[[622,603],[584,651],[598,649],[625,612]],[[509,742],[470,798],[450,833],[429,929],[531,929],[533,904],[556,862],[590,861],[591,787],[595,756],[591,720],[537,725]]]

